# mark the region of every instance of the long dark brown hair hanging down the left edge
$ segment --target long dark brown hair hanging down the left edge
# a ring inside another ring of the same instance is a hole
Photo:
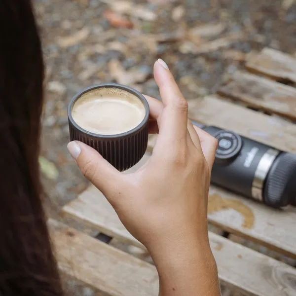
[[[0,295],[61,296],[40,200],[43,59],[30,0],[0,1]]]

